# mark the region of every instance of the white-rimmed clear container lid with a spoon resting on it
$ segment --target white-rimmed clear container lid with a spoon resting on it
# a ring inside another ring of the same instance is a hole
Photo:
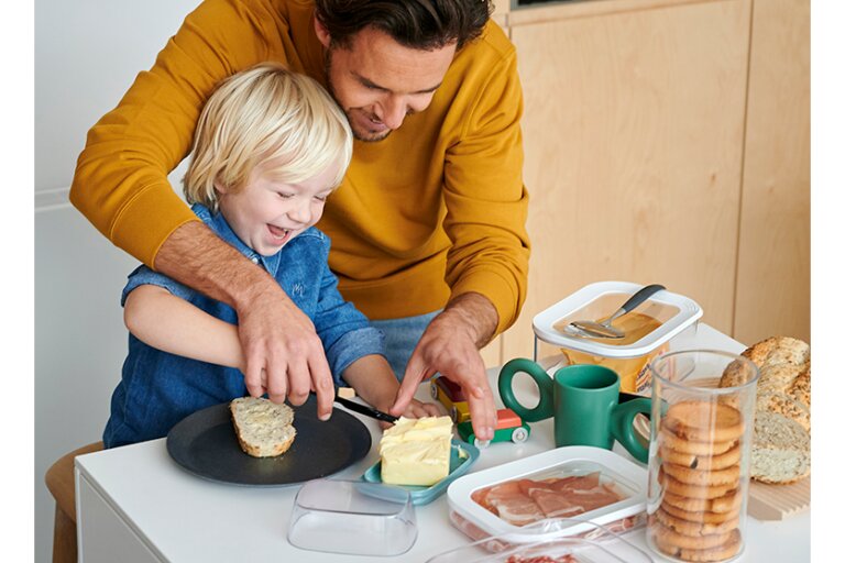
[[[597,282],[582,287],[534,318],[534,333],[544,342],[604,357],[637,357],[657,350],[701,318],[699,303],[662,289],[614,325],[624,339],[588,339],[569,335],[564,328],[575,320],[601,320],[613,314],[640,289],[629,282]],[[627,327],[626,327],[627,324]]]

